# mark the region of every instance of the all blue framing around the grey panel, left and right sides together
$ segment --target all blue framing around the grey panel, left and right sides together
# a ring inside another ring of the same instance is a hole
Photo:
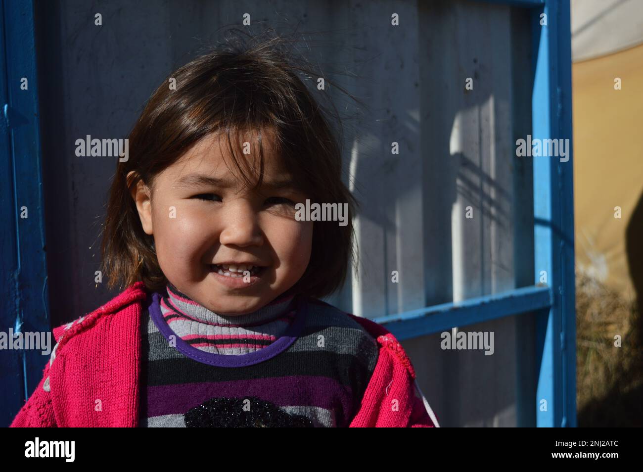
[[[529,8],[533,21],[532,136],[572,143],[571,35],[568,0],[479,0]],[[0,321],[14,332],[50,331],[44,245],[41,149],[33,3],[0,0],[0,198],[6,229],[0,246]],[[547,26],[540,25],[541,14]],[[28,80],[28,89],[20,87]],[[534,286],[376,318],[399,339],[503,316],[536,313],[538,426],[576,426],[573,154],[567,162],[532,158],[534,165]],[[28,218],[21,218],[21,208]],[[541,274],[547,284],[541,284]],[[23,316],[28,314],[28,316]],[[3,328],[4,329],[4,328]],[[40,381],[39,351],[3,353],[0,388],[4,424]],[[12,386],[21,385],[21,391]],[[543,403],[543,401],[546,402]]]

